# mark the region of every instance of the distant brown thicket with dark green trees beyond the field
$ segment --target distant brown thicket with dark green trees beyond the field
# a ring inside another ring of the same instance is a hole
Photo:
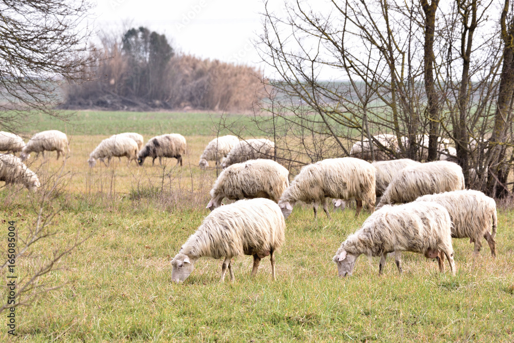
[[[147,28],[102,39],[87,80],[65,89],[66,108],[247,110],[264,93],[262,72],[176,53]]]

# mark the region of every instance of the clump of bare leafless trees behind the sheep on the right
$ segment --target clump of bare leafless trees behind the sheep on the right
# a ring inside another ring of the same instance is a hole
[[[320,12],[297,0],[285,4],[283,16],[266,6],[258,47],[275,80],[261,109],[280,123],[278,151],[290,158],[285,142],[307,136],[336,143],[316,154],[304,148],[307,158],[293,144],[297,162],[305,163],[348,156],[352,144],[367,141],[373,142],[372,159],[374,149],[394,158],[450,159],[463,167],[468,185],[470,168],[487,178],[494,154],[484,154],[485,142],[500,120],[493,104],[504,60],[500,13],[491,3],[346,0]],[[321,80],[322,69],[334,77]],[[502,146],[512,143],[509,130]],[[394,135],[396,143],[381,144],[377,136],[383,134]],[[508,163],[502,165],[508,175]]]

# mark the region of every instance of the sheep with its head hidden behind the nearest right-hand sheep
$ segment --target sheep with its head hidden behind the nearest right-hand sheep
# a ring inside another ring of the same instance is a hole
[[[498,218],[494,199],[478,190],[464,189],[425,195],[416,199],[416,202],[419,201],[435,202],[445,207],[453,223],[451,236],[469,238],[469,243],[474,243],[475,254],[480,252],[484,237],[489,243],[492,257],[496,256],[494,237]]]

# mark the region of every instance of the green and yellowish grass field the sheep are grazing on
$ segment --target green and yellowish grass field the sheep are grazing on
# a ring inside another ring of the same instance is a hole
[[[355,219],[346,210],[328,220],[321,212],[313,220],[311,207],[304,205],[286,220],[277,281],[271,281],[268,258],[252,278],[252,259],[245,256],[235,262],[235,282],[219,283],[222,261],[203,258],[184,283],[173,284],[169,261],[209,214],[205,205],[216,170],[200,170],[197,163],[214,137],[215,118],[89,111],[75,118],[80,126],[69,135],[62,186],[45,205],[46,213],[59,212],[50,226],[55,235],[16,261],[17,275],[28,275],[77,235],[90,236],[39,281],[63,287],[16,309],[16,337],[7,334],[2,314],[1,341],[514,341],[511,209],[499,209],[495,260],[487,244],[473,258],[469,240],[453,240],[454,277],[439,274],[434,260],[405,253],[401,276],[393,259],[379,277],[378,258],[369,262],[361,256],[353,276],[339,278],[332,257],[368,214]],[[62,129],[59,125],[64,124],[42,119],[26,131]],[[236,125],[256,132],[248,118]],[[174,159],[164,168],[152,166],[147,159],[143,167],[127,167],[126,159],[115,159],[109,167],[89,168],[90,151],[121,131],[140,132],[145,141],[165,132],[183,134],[184,166],[175,166]],[[30,161],[48,188],[62,161],[54,153]],[[7,242],[5,221],[15,220],[19,237],[26,235],[42,192],[3,182],[0,187],[0,232]]]

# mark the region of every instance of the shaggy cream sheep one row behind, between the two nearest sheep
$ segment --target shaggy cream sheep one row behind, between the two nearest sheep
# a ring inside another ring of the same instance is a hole
[[[375,205],[375,168],[366,161],[343,157],[326,159],[304,166],[286,188],[279,200],[279,206],[287,218],[297,201],[314,202],[314,217],[317,217],[321,203],[328,218],[325,197],[350,199],[355,197],[359,216],[362,202],[373,212]]]

